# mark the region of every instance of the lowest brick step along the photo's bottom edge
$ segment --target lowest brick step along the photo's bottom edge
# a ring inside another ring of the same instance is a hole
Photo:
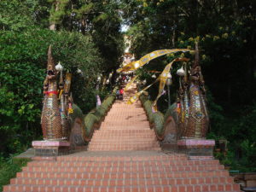
[[[78,191],[78,192],[98,192],[98,191],[108,191],[108,192],[114,192],[114,191],[121,191],[121,192],[144,192],[144,191],[176,191],[176,192],[206,192],[206,191],[226,191],[226,192],[236,192],[240,191],[238,184],[198,184],[198,185],[136,185],[136,186],[109,186],[109,185],[102,185],[99,186],[69,186],[69,185],[62,185],[62,186],[56,186],[56,185],[8,185],[3,187],[3,191],[27,191],[27,192],[35,192],[35,191]]]

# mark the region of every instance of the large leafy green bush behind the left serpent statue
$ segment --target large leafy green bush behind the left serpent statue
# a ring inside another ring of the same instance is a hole
[[[78,32],[53,32],[33,26],[21,32],[0,31],[0,36],[0,150],[8,156],[42,137],[42,87],[49,44],[55,61],[61,61],[73,73],[73,99],[84,113],[96,103],[94,82],[102,59],[90,37]],[[78,67],[84,76],[75,73]]]

